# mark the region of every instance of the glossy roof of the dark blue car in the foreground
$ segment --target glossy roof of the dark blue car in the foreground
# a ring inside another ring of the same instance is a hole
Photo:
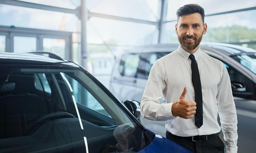
[[[62,59],[53,53],[48,52],[3,52],[0,51],[0,64],[19,65],[72,65],[75,64],[66,59]]]

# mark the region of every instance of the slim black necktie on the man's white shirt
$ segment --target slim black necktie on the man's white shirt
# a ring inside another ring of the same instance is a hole
[[[195,102],[196,102],[196,113],[195,113],[195,125],[200,128],[202,126],[202,86],[200,81],[199,70],[193,54],[189,55],[191,59],[191,70],[192,70],[192,83],[195,90]]]

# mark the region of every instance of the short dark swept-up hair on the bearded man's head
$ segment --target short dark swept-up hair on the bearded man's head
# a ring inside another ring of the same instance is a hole
[[[187,4],[180,7],[176,12],[177,22],[182,15],[188,15],[192,13],[200,13],[202,16],[202,23],[204,23],[204,9],[198,4]]]

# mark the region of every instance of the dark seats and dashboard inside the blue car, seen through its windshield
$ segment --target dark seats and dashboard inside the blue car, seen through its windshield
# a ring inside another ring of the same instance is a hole
[[[85,147],[83,135],[86,135],[88,147],[92,152],[98,152],[99,144],[104,146],[107,143],[113,145],[117,143],[113,136],[116,127],[114,121],[78,104],[77,107],[81,110],[82,125],[80,124],[74,102],[70,99],[70,95],[65,93],[68,90],[65,90],[67,87],[60,80],[59,74],[55,75],[55,78],[59,77],[58,86],[54,85],[53,78],[52,82],[49,80],[51,82],[49,82],[50,94],[45,91],[43,85],[41,89],[35,88],[34,76],[36,75],[38,74],[1,75],[1,148],[7,147],[8,142],[13,141],[17,144],[16,148],[13,147],[14,150],[32,143],[33,147],[27,148],[27,151],[42,149],[55,152],[58,149],[68,152],[75,148],[77,152],[80,152],[83,150],[81,148]],[[53,75],[46,76],[52,77]],[[37,87],[39,87],[38,84]],[[62,95],[59,94],[60,90]],[[47,150],[49,148],[45,148],[45,145],[51,149]]]

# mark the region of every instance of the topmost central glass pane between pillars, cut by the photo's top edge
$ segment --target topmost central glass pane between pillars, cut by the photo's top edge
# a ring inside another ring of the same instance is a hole
[[[86,0],[90,12],[157,21],[160,0]]]

